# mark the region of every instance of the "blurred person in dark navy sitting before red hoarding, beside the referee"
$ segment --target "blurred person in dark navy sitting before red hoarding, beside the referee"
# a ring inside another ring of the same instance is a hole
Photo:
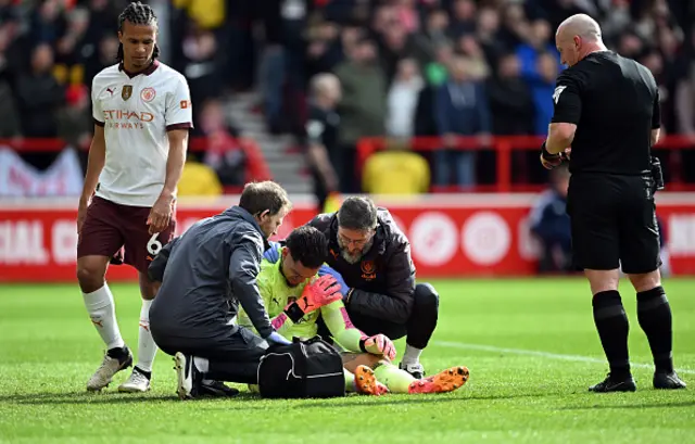
[[[561,165],[551,172],[551,188],[535,202],[529,225],[541,244],[539,272],[571,269],[570,223],[566,212],[569,170]]]

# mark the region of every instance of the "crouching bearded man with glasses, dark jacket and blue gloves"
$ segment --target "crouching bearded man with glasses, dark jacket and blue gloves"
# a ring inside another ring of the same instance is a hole
[[[319,275],[330,274],[341,284],[353,325],[367,335],[406,337],[399,367],[421,379],[420,354],[437,327],[439,295],[429,283],[415,284],[410,243],[389,211],[377,208],[369,198],[352,196],[337,213],[320,214],[308,225],[328,239],[330,268]],[[265,257],[276,262],[278,254],[271,249]],[[330,335],[325,326],[318,333]]]

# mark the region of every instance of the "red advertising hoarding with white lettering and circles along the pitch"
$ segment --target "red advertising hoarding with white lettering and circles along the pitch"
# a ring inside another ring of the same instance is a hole
[[[695,275],[695,194],[660,193],[658,214],[669,234],[671,268]],[[430,194],[408,200],[375,198],[408,236],[418,278],[528,276],[536,245],[527,218],[536,194]],[[206,203],[207,202],[207,203]],[[238,196],[178,206],[179,232],[238,202]],[[313,202],[296,202],[279,238],[309,220]],[[76,201],[0,201],[0,281],[74,281]],[[127,266],[109,279],[131,280]]]

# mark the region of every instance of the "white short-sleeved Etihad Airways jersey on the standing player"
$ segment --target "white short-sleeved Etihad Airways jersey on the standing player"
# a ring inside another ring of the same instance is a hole
[[[132,77],[113,65],[94,76],[91,101],[94,124],[104,127],[106,140],[97,195],[151,207],[164,188],[166,132],[193,127],[186,78],[156,61]]]

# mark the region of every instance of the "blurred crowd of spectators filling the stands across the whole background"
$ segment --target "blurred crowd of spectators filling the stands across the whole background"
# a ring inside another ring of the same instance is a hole
[[[0,0],[0,139],[37,170],[59,152],[31,148],[35,138],[76,148],[84,167],[91,79],[115,63],[126,3]],[[695,144],[691,0],[149,3],[160,16],[162,59],[191,89],[195,129],[184,194],[267,177],[313,181],[321,203],[331,192],[494,183],[496,137],[547,131],[564,69],[555,29],[576,13],[597,18],[609,49],[654,73],[664,130]],[[372,137],[388,138],[388,150],[357,167],[357,145]],[[483,149],[460,150],[471,143]],[[536,153],[514,153],[515,180],[547,183]],[[695,182],[693,151],[668,154],[667,179]],[[291,157],[299,167],[288,174]],[[563,201],[566,180],[551,183]]]

